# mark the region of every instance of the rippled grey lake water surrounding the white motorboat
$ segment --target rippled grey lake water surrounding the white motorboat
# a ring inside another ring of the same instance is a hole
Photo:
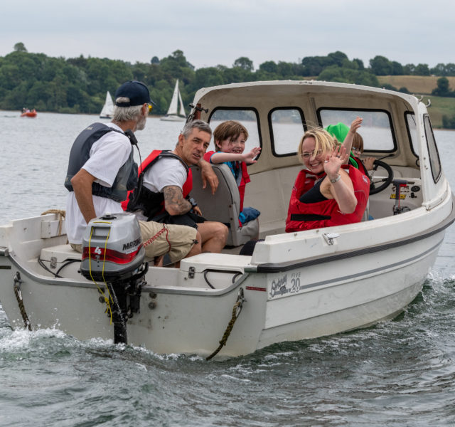
[[[0,223],[65,209],[87,115],[0,111]],[[142,158],[182,123],[149,119]],[[455,189],[455,133],[435,131]],[[455,227],[423,291],[390,322],[205,362],[58,330],[12,331],[0,306],[0,426],[455,426]]]

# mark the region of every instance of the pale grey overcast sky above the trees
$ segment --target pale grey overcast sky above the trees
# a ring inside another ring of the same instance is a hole
[[[180,49],[196,68],[255,68],[342,51],[368,66],[455,63],[451,0],[2,0],[0,56],[28,52],[149,62]]]

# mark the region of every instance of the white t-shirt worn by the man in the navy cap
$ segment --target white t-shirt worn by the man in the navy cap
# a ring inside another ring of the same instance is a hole
[[[120,127],[112,122],[106,123],[106,125],[123,132]],[[95,182],[102,186],[112,187],[117,172],[127,162],[131,150],[132,144],[127,136],[121,135],[119,132],[108,132],[92,145],[90,158],[82,166],[82,169],[95,176]],[[117,201],[100,196],[92,196],[92,199],[97,216],[102,216],[107,212],[110,214],[123,212],[122,205]],[[68,241],[74,244],[82,243],[82,236],[87,223],[77,205],[74,191],[70,191],[66,199],[65,225]]]

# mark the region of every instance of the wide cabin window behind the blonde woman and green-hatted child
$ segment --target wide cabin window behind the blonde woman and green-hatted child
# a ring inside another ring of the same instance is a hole
[[[392,120],[385,110],[341,110],[338,108],[319,108],[321,125],[336,125],[341,122],[350,126],[355,117],[362,117],[362,127],[358,134],[363,138],[365,152],[393,152],[397,144],[392,130]]]

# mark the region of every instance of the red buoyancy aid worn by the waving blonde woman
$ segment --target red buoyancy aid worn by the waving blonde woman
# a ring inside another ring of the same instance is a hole
[[[286,219],[286,231],[312,230],[314,228],[341,226],[360,222],[365,212],[370,192],[370,180],[365,174],[353,166],[343,166],[347,169],[349,178],[353,183],[355,199],[357,206],[352,214],[343,214],[336,203],[335,199],[327,199],[317,203],[302,203],[299,198],[302,194],[309,191],[314,186],[316,179],[322,175],[316,175],[308,170],[301,170],[297,175],[294,187],[292,188],[291,200]],[[297,220],[299,216],[307,216],[308,219]],[[292,218],[294,216],[294,218]]]

